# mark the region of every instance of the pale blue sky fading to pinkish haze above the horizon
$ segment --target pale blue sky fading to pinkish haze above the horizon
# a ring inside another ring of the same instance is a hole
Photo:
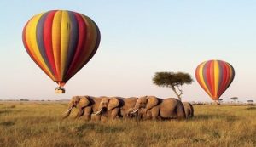
[[[236,76],[221,96],[254,99],[255,1],[0,1],[0,99],[70,99],[73,95],[176,97],[152,82],[157,71],[183,71],[183,101],[211,101],[195,79],[209,59],[233,65]],[[101,31],[90,62],[67,82],[65,94],[26,54],[21,32],[33,15],[62,9],[85,14]]]

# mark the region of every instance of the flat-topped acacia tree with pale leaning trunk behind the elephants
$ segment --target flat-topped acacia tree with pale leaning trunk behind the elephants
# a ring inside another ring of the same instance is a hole
[[[188,73],[184,72],[156,72],[153,77],[153,83],[160,87],[172,88],[177,98],[181,100],[183,84],[191,84],[193,79]],[[177,91],[179,93],[177,93]]]

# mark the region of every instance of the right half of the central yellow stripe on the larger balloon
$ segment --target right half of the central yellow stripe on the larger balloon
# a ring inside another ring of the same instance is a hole
[[[67,62],[67,51],[70,37],[70,19],[67,11],[62,11],[61,16],[61,81],[64,77]]]

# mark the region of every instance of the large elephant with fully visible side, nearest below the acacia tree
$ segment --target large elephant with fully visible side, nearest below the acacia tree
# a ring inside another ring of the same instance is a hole
[[[151,118],[154,120],[186,118],[182,102],[175,98],[160,99],[155,96],[143,96],[137,99],[131,114],[137,113],[142,108],[148,109],[148,113],[151,113]]]

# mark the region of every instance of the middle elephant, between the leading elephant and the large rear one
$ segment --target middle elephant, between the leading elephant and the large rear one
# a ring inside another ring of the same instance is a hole
[[[96,115],[110,117],[112,120],[116,117],[129,117],[129,110],[132,109],[137,102],[137,98],[121,98],[121,97],[104,97],[99,105]]]

